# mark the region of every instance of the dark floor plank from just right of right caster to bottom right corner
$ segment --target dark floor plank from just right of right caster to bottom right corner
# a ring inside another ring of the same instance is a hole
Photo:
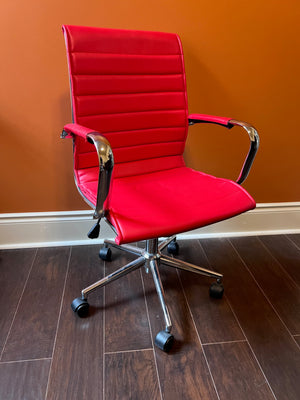
[[[300,398],[299,348],[226,239],[203,240],[225,274],[226,295],[277,399]],[[257,260],[259,262],[259,258]]]

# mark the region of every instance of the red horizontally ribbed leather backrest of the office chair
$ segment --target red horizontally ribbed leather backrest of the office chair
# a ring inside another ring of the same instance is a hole
[[[184,165],[188,111],[176,34],[63,26],[73,121],[110,142],[115,177]],[[75,168],[98,165],[76,139]]]

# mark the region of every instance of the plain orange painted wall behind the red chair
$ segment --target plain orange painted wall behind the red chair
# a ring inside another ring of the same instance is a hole
[[[261,148],[244,186],[258,202],[299,201],[299,0],[11,0],[0,6],[0,212],[87,208],[72,178],[61,25],[177,32],[190,112],[252,122]],[[235,178],[238,128],[195,126],[186,161]]]

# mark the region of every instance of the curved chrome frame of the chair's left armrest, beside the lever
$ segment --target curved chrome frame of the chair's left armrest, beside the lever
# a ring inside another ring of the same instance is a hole
[[[97,203],[93,215],[95,219],[99,219],[105,217],[104,202],[109,196],[114,157],[109,141],[100,133],[89,133],[86,138],[96,147],[99,160]]]

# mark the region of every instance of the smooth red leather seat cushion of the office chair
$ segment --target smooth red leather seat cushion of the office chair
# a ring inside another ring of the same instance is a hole
[[[92,194],[97,182],[86,185]],[[240,185],[187,167],[114,179],[109,204],[118,244],[171,236],[255,208]]]

